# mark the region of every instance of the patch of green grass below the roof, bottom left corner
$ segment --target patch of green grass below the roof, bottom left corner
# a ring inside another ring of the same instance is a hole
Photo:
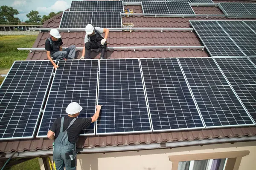
[[[4,170],[40,170],[40,165],[38,158],[34,158],[12,167],[5,168]]]

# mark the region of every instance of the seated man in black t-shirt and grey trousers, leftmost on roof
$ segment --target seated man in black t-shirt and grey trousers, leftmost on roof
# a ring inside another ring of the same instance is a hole
[[[51,61],[55,69],[59,67],[56,64],[59,60],[75,59],[76,46],[72,45],[62,50],[63,42],[58,30],[51,29],[50,35],[51,37],[47,38],[45,41],[45,50],[47,52],[48,59]],[[52,59],[56,60],[56,63]]]

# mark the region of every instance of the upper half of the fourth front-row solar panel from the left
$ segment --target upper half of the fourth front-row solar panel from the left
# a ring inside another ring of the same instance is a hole
[[[145,88],[186,87],[186,81],[175,59],[141,59]]]

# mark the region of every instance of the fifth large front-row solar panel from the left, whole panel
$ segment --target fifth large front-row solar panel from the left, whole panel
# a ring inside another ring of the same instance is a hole
[[[252,125],[213,58],[179,58],[206,127]]]

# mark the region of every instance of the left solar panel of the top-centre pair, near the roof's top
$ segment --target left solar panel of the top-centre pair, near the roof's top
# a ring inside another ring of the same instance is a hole
[[[170,14],[166,2],[141,1],[144,14]]]

